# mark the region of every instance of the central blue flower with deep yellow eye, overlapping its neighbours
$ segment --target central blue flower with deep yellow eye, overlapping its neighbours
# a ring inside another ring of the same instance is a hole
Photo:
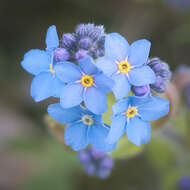
[[[84,101],[93,113],[104,113],[107,109],[106,92],[111,90],[114,82],[97,69],[90,57],[80,59],[78,64],[62,62],[55,65],[56,75],[67,83],[62,90],[61,105],[70,108]]]

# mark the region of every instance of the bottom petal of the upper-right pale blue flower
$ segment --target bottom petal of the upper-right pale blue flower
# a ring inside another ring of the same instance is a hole
[[[117,100],[124,98],[128,95],[131,90],[131,85],[127,77],[124,74],[115,74],[112,76],[112,79],[115,81],[113,86],[113,93]]]

